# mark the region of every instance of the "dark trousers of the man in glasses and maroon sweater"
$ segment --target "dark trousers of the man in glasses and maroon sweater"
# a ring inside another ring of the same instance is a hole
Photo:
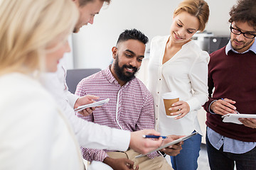
[[[256,169],[256,147],[245,154],[232,154],[215,149],[210,144],[206,135],[206,148],[211,170],[255,170]]]

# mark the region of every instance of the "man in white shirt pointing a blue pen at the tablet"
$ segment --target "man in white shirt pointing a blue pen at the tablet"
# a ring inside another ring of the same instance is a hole
[[[104,2],[110,3],[110,0],[73,0],[80,11],[80,18],[75,26],[74,33],[78,33],[80,27],[93,23],[95,14],[100,12],[100,8]],[[63,112],[70,121],[78,142],[82,147],[97,149],[117,149],[120,151],[127,150],[128,147],[139,153],[146,153],[152,149],[156,149],[161,145],[161,139],[149,140],[144,139],[142,135],[160,135],[155,130],[140,130],[137,132],[129,132],[108,128],[106,126],[88,123],[76,117],[74,108],[83,104],[92,103],[96,96],[83,96],[79,98],[68,91],[65,84],[65,69],[59,64],[58,71],[54,74],[43,75],[42,81],[48,91],[55,97],[55,100],[63,109]],[[84,110],[84,115],[92,113],[92,109]],[[172,140],[172,139],[169,139]],[[170,153],[179,152],[180,146],[173,146],[169,149]]]

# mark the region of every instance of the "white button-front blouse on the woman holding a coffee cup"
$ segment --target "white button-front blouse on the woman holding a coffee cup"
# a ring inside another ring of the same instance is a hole
[[[174,57],[162,64],[169,35],[157,36],[151,42],[149,91],[154,97],[155,128],[161,135],[188,135],[196,130],[202,135],[197,111],[208,100],[208,62],[210,57],[193,40],[181,47]],[[178,92],[190,112],[183,118],[167,118],[162,94]]]

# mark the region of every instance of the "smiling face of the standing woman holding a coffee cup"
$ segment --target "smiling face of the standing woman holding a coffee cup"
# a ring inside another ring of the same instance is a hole
[[[170,40],[174,43],[185,44],[192,38],[199,28],[199,21],[196,16],[183,11],[174,16],[174,21],[171,24]]]

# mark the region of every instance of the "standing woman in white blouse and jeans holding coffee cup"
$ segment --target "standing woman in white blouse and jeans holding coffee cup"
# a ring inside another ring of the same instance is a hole
[[[209,55],[191,37],[203,31],[209,7],[203,0],[185,0],[174,11],[171,34],[157,36],[151,42],[149,61],[149,91],[154,96],[156,130],[161,135],[199,134],[186,140],[181,153],[171,157],[174,169],[197,169],[201,145],[201,128],[197,111],[208,99]],[[169,110],[178,110],[167,118],[162,95],[176,91],[180,101]]]

